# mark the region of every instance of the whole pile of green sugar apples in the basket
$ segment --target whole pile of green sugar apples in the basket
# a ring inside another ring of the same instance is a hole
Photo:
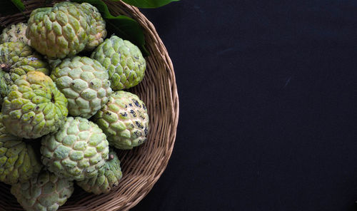
[[[122,177],[115,150],[146,141],[146,106],[123,91],[144,78],[145,58],[106,35],[96,7],[61,2],[0,36],[0,181],[25,210],[57,210],[74,182],[111,191]]]

